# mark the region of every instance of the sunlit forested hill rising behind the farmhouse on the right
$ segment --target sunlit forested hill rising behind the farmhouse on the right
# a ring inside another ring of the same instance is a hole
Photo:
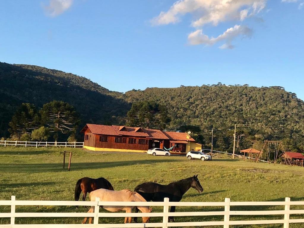
[[[233,135],[229,129],[234,124],[246,124],[250,127],[240,127],[240,133],[257,135],[259,140],[281,139],[290,144],[288,149],[293,144],[304,149],[304,102],[279,86],[257,88],[219,83],[132,90],[126,96],[128,102],[150,99],[166,104],[172,118],[171,128],[188,124],[201,126],[202,130],[218,130],[218,135],[223,134],[220,140],[226,140],[219,143],[222,145],[231,143],[226,136]],[[251,142],[257,139],[252,137]]]

